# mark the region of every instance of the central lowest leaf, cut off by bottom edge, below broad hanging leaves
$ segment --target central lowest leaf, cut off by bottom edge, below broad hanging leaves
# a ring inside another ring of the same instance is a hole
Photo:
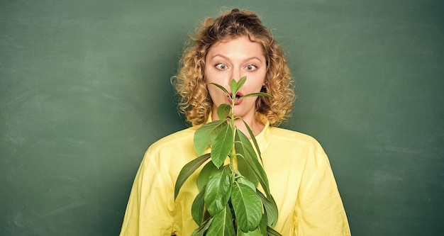
[[[235,236],[233,216],[228,206],[214,215],[213,223],[211,223],[206,235]]]

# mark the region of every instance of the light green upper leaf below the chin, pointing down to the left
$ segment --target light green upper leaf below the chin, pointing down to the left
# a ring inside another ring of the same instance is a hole
[[[213,144],[219,131],[228,126],[226,120],[215,120],[202,125],[194,133],[194,149],[198,155],[204,154],[206,148]]]

